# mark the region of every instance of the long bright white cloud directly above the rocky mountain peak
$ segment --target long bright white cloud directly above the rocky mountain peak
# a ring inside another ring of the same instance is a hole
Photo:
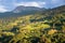
[[[24,5],[24,6],[38,6],[42,8],[46,2],[21,2],[21,3],[15,3],[15,5]]]

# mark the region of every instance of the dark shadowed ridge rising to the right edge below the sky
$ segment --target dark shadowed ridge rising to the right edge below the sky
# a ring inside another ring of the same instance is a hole
[[[53,8],[53,9],[49,9],[47,11],[43,12],[43,14],[48,14],[48,15],[54,15],[54,14],[61,14],[61,13],[65,13],[65,5],[61,5],[57,8]]]

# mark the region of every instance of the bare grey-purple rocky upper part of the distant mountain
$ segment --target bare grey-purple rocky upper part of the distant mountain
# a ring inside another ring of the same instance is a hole
[[[21,13],[21,12],[41,12],[41,11],[44,11],[46,9],[43,8],[37,8],[37,6],[23,6],[23,5],[20,5],[17,6],[16,9],[13,10],[13,13]]]

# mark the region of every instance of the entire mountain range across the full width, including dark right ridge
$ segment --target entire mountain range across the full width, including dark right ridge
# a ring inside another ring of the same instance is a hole
[[[18,16],[23,16],[23,15],[28,15],[28,14],[34,15],[34,14],[39,14],[39,13],[51,16],[51,15],[54,15],[57,13],[63,13],[63,12],[65,13],[65,5],[61,5],[61,6],[53,8],[53,9],[20,5],[11,12],[0,13],[0,18],[18,17]]]

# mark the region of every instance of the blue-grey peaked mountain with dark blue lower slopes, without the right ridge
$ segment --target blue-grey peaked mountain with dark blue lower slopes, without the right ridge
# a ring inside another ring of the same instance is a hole
[[[36,14],[36,13],[43,12],[46,10],[47,9],[44,9],[44,8],[41,9],[41,8],[36,8],[36,6],[20,5],[11,12],[0,13],[0,18],[3,18],[3,17],[17,17],[17,16],[23,16],[23,15],[27,15],[27,14]]]

